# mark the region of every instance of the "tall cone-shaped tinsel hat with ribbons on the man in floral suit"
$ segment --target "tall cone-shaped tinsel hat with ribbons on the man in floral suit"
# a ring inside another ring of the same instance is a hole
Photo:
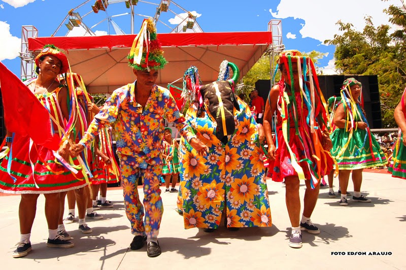
[[[127,58],[128,65],[136,70],[159,70],[167,63],[152,19],[144,19]]]

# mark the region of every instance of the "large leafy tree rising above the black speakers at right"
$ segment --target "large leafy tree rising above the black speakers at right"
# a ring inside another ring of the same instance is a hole
[[[365,17],[362,32],[351,23],[337,22],[341,35],[324,43],[335,45],[335,66],[341,74],[378,75],[382,120],[385,127],[395,127],[393,111],[406,86],[406,12],[405,6],[391,5],[384,10],[396,26],[390,33],[388,25],[375,27]]]

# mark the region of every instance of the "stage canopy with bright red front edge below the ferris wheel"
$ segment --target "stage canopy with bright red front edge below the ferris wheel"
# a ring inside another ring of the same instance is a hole
[[[28,50],[37,55],[44,45],[65,50],[72,71],[80,74],[90,93],[113,92],[136,79],[127,54],[136,35],[29,38]],[[166,87],[195,65],[204,83],[217,80],[221,61],[238,65],[240,79],[272,43],[271,32],[161,33],[168,63],[159,72],[157,84]],[[174,83],[181,87],[182,80]]]

